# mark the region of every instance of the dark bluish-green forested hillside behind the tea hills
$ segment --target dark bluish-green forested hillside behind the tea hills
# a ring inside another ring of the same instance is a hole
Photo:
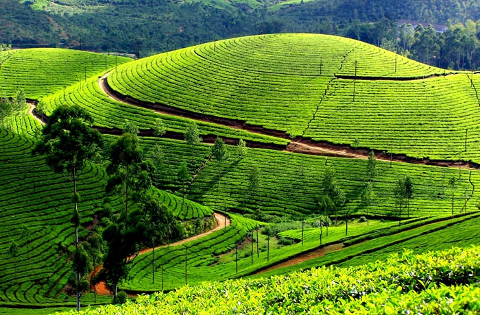
[[[221,1],[220,1],[221,2]],[[13,47],[67,47],[136,53],[140,57],[222,38],[279,32],[336,34],[369,42],[428,64],[478,68],[479,1],[331,0],[298,1],[272,10],[278,1],[204,5],[160,0],[89,0],[97,10],[53,14],[28,3],[0,0],[0,42]],[[281,1],[280,1],[281,2]],[[79,6],[80,8],[80,6]],[[400,19],[449,25],[400,27]],[[469,21],[470,20],[470,21]],[[462,23],[462,24],[458,24]]]

